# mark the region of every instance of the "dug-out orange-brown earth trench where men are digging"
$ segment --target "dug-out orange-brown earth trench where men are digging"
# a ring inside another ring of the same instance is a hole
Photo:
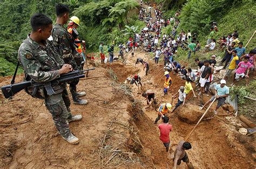
[[[143,55],[140,57],[146,59]],[[131,58],[126,65],[114,63],[108,69],[112,70],[119,83],[123,83],[127,77],[132,77],[135,73],[138,73],[142,77],[142,90],[154,90],[157,93],[158,103],[171,103],[172,94],[176,93],[181,85],[185,85],[185,81],[170,73],[173,80],[171,94],[164,97],[162,87],[164,84],[163,65],[154,65],[149,60],[151,69],[149,75],[145,76],[143,65],[134,67],[135,60],[136,57]],[[198,110],[199,105],[207,102],[210,98],[193,98],[191,92],[188,94],[184,107],[179,107],[175,113],[167,115],[170,118],[169,123],[172,124],[173,131],[170,133],[171,151],[166,153],[163,143],[159,140],[158,126],[153,124],[157,117],[156,111],[153,107],[150,109],[144,108],[146,100],[137,93],[138,88],[135,85],[127,86],[132,89],[132,94],[128,99],[127,111],[130,114],[129,126],[134,131],[130,132],[131,135],[126,148],[136,153],[143,167],[172,167],[173,160],[171,158],[176,145],[180,140],[185,139],[203,114],[204,111]],[[175,105],[176,103],[177,100],[174,99],[172,104]],[[220,111],[226,113],[226,110],[228,108]],[[196,168],[254,168],[255,164],[252,156],[255,153],[253,148],[255,146],[250,146],[253,140],[244,138],[234,126],[225,123],[225,120],[220,118],[223,117],[216,118],[213,116],[213,108],[211,108],[188,139],[192,149],[187,153],[193,166]],[[158,121],[159,123],[161,122]],[[136,133],[136,136],[134,136],[134,133]],[[250,158],[244,159],[245,156]],[[179,168],[186,168],[185,163],[181,163]]]

